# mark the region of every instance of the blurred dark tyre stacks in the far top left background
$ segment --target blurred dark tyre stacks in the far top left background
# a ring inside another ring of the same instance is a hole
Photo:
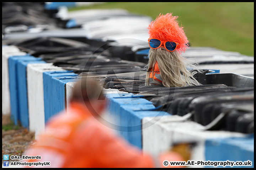
[[[63,10],[53,8],[49,3],[3,2],[2,33],[33,34],[54,28],[77,27],[74,19],[63,19],[60,15]]]

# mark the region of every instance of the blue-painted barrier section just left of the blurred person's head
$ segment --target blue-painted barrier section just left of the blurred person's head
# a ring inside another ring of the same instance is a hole
[[[66,108],[65,84],[76,81],[78,74],[72,71],[50,71],[43,73],[45,122]]]

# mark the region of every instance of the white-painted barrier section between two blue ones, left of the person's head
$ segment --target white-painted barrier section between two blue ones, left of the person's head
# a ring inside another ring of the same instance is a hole
[[[35,132],[35,138],[44,130],[44,93],[43,72],[64,70],[53,66],[52,63],[27,65],[27,93],[29,129]]]

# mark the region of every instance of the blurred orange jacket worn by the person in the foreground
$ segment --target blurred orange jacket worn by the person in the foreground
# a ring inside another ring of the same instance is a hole
[[[46,168],[154,167],[150,155],[112,133],[89,113],[85,104],[70,105],[70,114],[55,115],[25,153],[41,159],[26,162],[50,162],[50,166],[43,166]]]

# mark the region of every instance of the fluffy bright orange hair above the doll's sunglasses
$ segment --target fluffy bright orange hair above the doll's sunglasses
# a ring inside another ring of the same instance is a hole
[[[162,41],[178,42],[177,51],[185,52],[187,49],[187,37],[184,33],[183,27],[178,26],[176,19],[178,16],[172,16],[172,13],[160,15],[149,24],[148,33],[149,38],[157,38]]]

